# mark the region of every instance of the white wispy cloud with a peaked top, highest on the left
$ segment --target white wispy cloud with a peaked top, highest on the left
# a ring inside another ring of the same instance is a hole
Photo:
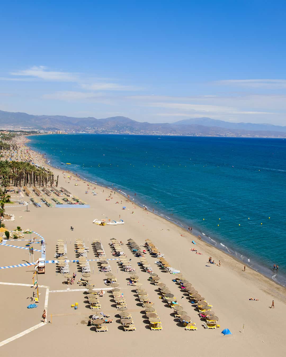
[[[50,71],[45,66],[33,66],[25,70],[10,72],[10,74],[12,76],[34,77],[45,81],[56,82],[76,82],[79,80],[79,75],[77,73]]]

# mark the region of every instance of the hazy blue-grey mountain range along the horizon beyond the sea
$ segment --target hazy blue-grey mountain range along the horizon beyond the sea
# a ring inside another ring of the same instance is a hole
[[[104,119],[61,115],[31,115],[0,110],[0,129],[95,132],[112,134],[286,137],[286,126],[233,123],[208,117],[170,123],[138,122],[124,116]]]

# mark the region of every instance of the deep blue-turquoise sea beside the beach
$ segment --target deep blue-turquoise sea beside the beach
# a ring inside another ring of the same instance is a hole
[[[286,286],[286,140],[99,134],[29,139],[50,165],[120,189]]]

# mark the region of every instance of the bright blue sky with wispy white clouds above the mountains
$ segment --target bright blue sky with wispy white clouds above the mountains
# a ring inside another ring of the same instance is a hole
[[[286,125],[286,1],[6,1],[0,110]]]

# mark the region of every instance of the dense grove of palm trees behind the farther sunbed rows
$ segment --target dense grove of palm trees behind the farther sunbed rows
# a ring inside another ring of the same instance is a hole
[[[0,161],[0,180],[3,187],[14,185],[16,187],[31,185],[47,187],[54,184],[52,171],[24,161]]]

